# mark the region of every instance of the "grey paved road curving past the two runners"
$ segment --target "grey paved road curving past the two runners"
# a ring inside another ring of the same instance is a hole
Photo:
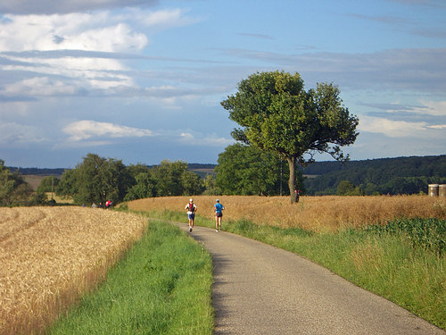
[[[299,255],[203,227],[190,235],[212,255],[214,334],[446,334]]]

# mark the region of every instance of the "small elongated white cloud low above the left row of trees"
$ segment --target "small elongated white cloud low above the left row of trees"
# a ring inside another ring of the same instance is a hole
[[[91,120],[76,121],[62,129],[70,136],[69,141],[81,141],[88,138],[141,138],[153,136],[152,130],[143,130],[120,126],[110,122]]]

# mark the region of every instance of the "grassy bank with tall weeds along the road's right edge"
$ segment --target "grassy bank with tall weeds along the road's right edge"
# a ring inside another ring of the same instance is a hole
[[[151,211],[151,215],[186,222],[184,213]],[[226,220],[223,230],[303,255],[446,329],[446,225],[444,221],[429,226],[423,222],[316,233]],[[195,224],[214,227],[213,220],[200,215]]]

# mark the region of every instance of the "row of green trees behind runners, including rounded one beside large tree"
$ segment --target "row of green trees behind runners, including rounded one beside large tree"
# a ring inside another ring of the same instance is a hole
[[[144,164],[125,166],[120,160],[88,154],[75,169],[62,174],[55,185],[58,196],[72,197],[77,204],[113,203],[145,197],[190,195],[260,195],[289,194],[285,188],[289,172],[277,155],[257,147],[235,144],[219,155],[216,178],[200,178],[188,170],[185,162],[162,161],[148,167]],[[301,173],[299,182],[303,185]],[[54,187],[42,180],[39,188]]]

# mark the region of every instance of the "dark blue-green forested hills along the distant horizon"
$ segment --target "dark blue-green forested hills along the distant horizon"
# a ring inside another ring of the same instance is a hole
[[[156,165],[153,165],[156,166]],[[149,166],[149,167],[153,167]],[[189,163],[189,170],[213,169],[215,164]],[[22,175],[56,175],[59,169],[17,168]],[[427,193],[428,184],[446,184],[446,155],[380,158],[340,163],[336,161],[310,164],[301,172],[305,179],[305,194],[310,196],[340,193],[340,184],[350,187],[351,195]],[[199,174],[205,174],[200,173]]]

